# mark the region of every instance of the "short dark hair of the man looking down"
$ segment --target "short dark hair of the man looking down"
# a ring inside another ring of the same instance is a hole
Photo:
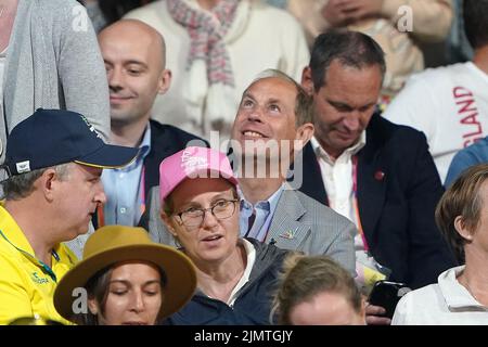
[[[316,90],[325,85],[325,74],[335,60],[358,69],[378,65],[385,76],[385,53],[375,40],[362,33],[332,29],[319,35],[311,50],[309,67]]]

